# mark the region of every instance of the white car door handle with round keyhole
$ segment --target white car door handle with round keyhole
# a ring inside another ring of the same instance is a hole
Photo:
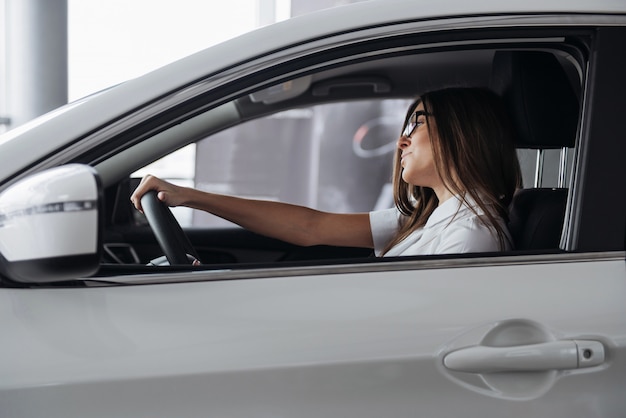
[[[483,374],[593,367],[604,358],[599,341],[561,340],[511,347],[476,345],[448,353],[443,363],[450,370]]]

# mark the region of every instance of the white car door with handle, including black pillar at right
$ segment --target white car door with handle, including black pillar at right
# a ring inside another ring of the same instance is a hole
[[[144,271],[85,287],[4,288],[3,413],[619,416],[626,35],[585,33],[579,168],[559,251]],[[607,184],[618,191],[611,205],[601,198]]]

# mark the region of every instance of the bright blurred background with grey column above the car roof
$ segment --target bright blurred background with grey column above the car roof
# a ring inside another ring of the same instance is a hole
[[[257,27],[362,0],[0,0],[0,133]]]

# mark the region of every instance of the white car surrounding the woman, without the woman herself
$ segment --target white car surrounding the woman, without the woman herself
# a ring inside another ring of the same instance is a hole
[[[622,0],[363,2],[9,131],[0,417],[624,416],[625,47]],[[166,166],[386,207],[408,100],[449,85],[492,88],[515,118],[514,251],[377,258],[204,213],[180,229],[162,205],[150,227],[130,204]]]

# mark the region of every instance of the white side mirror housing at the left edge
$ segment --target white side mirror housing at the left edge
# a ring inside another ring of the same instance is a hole
[[[103,198],[89,166],[26,177],[0,193],[0,275],[21,283],[84,278],[98,269]]]

